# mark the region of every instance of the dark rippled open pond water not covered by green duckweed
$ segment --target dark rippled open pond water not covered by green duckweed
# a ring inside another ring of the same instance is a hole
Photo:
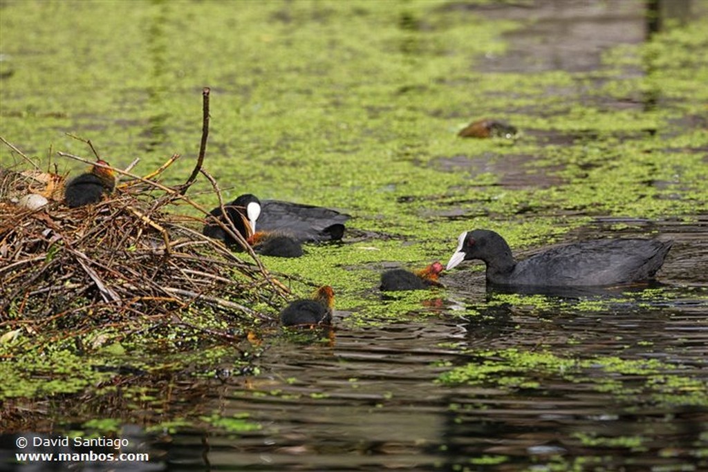
[[[641,4],[612,15],[595,5],[603,2],[521,3],[480,7],[490,17],[536,17],[509,35],[506,54],[482,62],[486,70],[592,70],[603,48],[644,40]],[[486,166],[509,188],[556,183],[526,175],[523,161],[440,165]],[[568,238],[616,235],[622,224],[627,236],[651,230],[675,240],[661,284],[513,297],[486,292],[479,272],[457,271],[443,298],[405,320],[360,327],[338,311],[331,333],[268,340],[254,375],[176,380],[173,396],[161,391],[166,416],[174,420],[186,401],[185,415],[218,410],[232,423],[148,432],[162,412],[145,413],[121,437],[127,451],[148,452],[147,463],[18,465],[16,441],[37,434],[16,432],[0,438],[0,469],[706,471],[708,218],[598,218]]]

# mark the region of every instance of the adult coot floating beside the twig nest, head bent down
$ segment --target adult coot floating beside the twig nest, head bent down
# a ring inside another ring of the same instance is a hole
[[[335,241],[343,237],[344,223],[350,219],[348,214],[333,209],[280,200],[261,201],[251,194],[241,195],[224,207],[229,219],[244,238],[249,238],[256,232],[257,221],[259,231],[290,236],[295,241]],[[210,213],[213,217],[222,217],[219,207],[212,209]],[[205,236],[224,241],[227,245],[236,243],[234,238],[229,237],[226,231],[213,221],[207,221],[203,233]]]

